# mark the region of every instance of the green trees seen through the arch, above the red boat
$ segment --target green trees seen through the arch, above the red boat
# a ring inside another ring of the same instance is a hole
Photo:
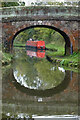
[[[27,29],[21,32],[15,38],[15,43],[26,43],[26,41],[30,38],[34,40],[44,40],[46,44],[56,41],[56,43],[64,43],[64,38],[55,30],[44,28],[44,27],[35,27],[31,29]],[[60,42],[59,42],[60,41]]]

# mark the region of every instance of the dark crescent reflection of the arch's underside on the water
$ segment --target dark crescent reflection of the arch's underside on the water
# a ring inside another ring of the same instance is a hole
[[[13,72],[12,72],[13,73]],[[39,96],[39,97],[50,97],[54,94],[60,93],[62,92],[64,89],[67,88],[69,82],[70,82],[70,72],[69,71],[65,71],[66,75],[64,80],[62,81],[61,84],[59,84],[58,86],[51,88],[51,89],[46,89],[46,90],[34,90],[34,89],[29,89],[29,88],[25,88],[24,86],[21,86],[14,78],[13,74],[13,81],[14,81],[14,85],[17,89],[19,89],[19,91],[26,93],[28,95],[31,96]]]

